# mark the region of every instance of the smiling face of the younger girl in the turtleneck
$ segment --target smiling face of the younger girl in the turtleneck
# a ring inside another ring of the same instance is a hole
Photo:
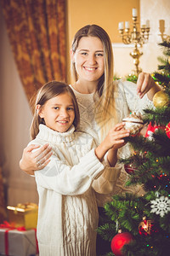
[[[39,108],[39,116],[44,119],[45,125],[54,131],[67,131],[74,119],[75,110],[71,96],[67,93],[48,100]]]

